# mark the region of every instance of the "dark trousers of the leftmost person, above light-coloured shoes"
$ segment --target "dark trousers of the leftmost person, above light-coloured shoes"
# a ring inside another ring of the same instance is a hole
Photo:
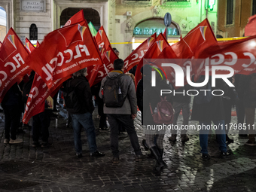
[[[19,105],[8,105],[4,108],[5,113],[5,139],[16,139],[17,129],[20,126]]]

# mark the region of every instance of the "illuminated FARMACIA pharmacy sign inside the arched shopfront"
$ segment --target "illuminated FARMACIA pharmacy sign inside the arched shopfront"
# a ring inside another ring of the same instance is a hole
[[[153,35],[155,32],[159,35],[161,32],[163,33],[165,28],[139,28],[136,27],[133,30],[133,35]],[[168,35],[179,35],[178,29],[168,28]]]

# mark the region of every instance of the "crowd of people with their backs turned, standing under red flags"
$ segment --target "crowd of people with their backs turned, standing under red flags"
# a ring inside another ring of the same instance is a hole
[[[123,60],[116,59],[114,61],[114,70],[109,72],[102,79],[101,83],[96,84],[94,87],[90,87],[88,83],[86,68],[75,72],[72,78],[63,83],[61,89],[64,95],[63,102],[65,102],[66,109],[72,119],[77,157],[83,156],[82,129],[87,133],[90,157],[105,156],[105,154],[98,151],[96,145],[96,133],[92,117],[94,111],[92,98],[94,95],[98,102],[99,129],[108,131],[108,128],[110,128],[110,147],[113,154],[113,163],[119,163],[118,135],[120,129],[126,130],[130,137],[131,145],[136,154],[135,160],[141,161],[145,158],[145,155],[142,154],[133,123],[138,107],[142,112],[142,126],[145,127],[145,139],[143,139],[142,145],[145,147],[145,150],[149,149],[151,151],[149,156],[156,159],[155,169],[157,172],[167,167],[163,161],[163,138],[166,130],[151,130],[147,128],[147,125],[157,124],[152,114],[154,109],[157,108],[157,104],[163,100],[160,96],[160,90],[173,90],[174,87],[160,73],[157,73],[156,86],[152,87],[152,71],[154,71],[154,68],[151,66],[143,66],[140,70],[142,79],[136,85],[134,76],[131,73],[123,74]],[[32,72],[29,80],[20,84],[14,84],[2,101],[2,108],[5,114],[5,144],[23,142],[22,139],[17,139],[17,129],[20,125],[20,117],[24,111],[24,104],[26,104],[29,94],[26,93],[26,87],[29,87],[29,84],[31,87],[34,75],[35,72]],[[236,106],[237,126],[245,127],[245,129],[239,129],[239,136],[248,137],[245,145],[256,145],[255,133],[254,129],[252,129],[254,128],[254,108],[256,108],[256,75],[235,75],[233,78],[230,78],[230,81],[235,87],[229,87],[222,79],[217,79],[216,86],[210,87],[212,90],[223,90],[223,96],[212,96],[212,98],[204,102],[199,96],[194,96],[192,114],[190,114],[191,96],[187,94],[169,94],[166,96],[166,101],[172,103],[174,111],[172,123],[174,125],[177,125],[178,116],[182,111],[183,125],[188,125],[189,119],[191,119],[198,120],[202,127],[210,126],[212,123],[221,127],[215,130],[221,158],[229,155],[227,152],[227,142],[233,142],[233,139],[230,139],[227,135],[231,125],[233,106]],[[211,81],[208,84],[211,84]],[[190,89],[190,85],[175,87],[175,89],[179,93],[186,93]],[[33,147],[50,147],[48,143],[48,128],[50,126],[52,109],[49,106],[49,102],[45,102],[44,112],[32,117]],[[108,127],[107,120],[110,127]],[[202,129],[199,133],[203,160],[209,160],[210,158],[208,153],[208,134],[209,129]],[[40,138],[41,143],[39,142]],[[176,138],[177,130],[171,130],[169,141],[176,142]],[[181,142],[185,143],[188,140],[187,130],[181,130]]]

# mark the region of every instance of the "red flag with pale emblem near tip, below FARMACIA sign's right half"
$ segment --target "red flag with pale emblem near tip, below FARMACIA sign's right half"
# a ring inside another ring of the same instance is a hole
[[[155,65],[155,66],[158,66],[161,68],[161,66],[157,65],[157,62],[154,62],[154,61],[155,61],[155,59],[158,58],[160,53],[162,53],[162,51],[166,47],[169,47],[169,43],[166,41],[166,38],[163,37],[163,34],[160,33],[160,35],[158,35],[154,44],[148,49],[148,51],[145,53],[145,56],[143,56],[143,59],[140,60],[138,66],[137,66],[136,74],[135,74],[136,86],[137,86],[139,80],[142,78],[141,69],[142,69],[143,64],[145,64],[144,62],[148,62],[148,64],[150,64],[150,65]],[[147,61],[145,61],[145,59],[147,59]]]

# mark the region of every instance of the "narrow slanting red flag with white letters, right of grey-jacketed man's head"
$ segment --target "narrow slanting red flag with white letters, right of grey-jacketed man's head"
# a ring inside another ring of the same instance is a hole
[[[136,50],[133,50],[133,52],[130,53],[130,55],[127,56],[126,59],[124,59],[124,73],[129,72],[130,69],[139,64],[139,61],[148,51],[148,48],[151,47],[152,44],[154,44],[156,39],[157,35],[156,33],[154,33],[153,35],[151,35],[151,37],[142,42],[142,44],[140,44],[139,47],[136,48]]]

